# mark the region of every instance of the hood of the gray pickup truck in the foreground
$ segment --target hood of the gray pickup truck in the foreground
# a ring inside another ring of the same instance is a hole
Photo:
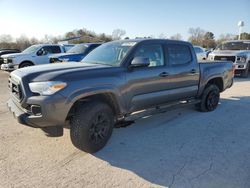
[[[17,75],[22,79],[28,79],[34,82],[51,80],[63,81],[71,79],[74,75],[83,75],[83,72],[109,67],[108,65],[88,63],[54,63],[17,69],[13,71],[11,75]]]

